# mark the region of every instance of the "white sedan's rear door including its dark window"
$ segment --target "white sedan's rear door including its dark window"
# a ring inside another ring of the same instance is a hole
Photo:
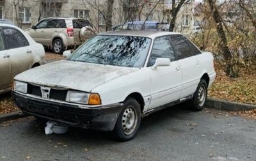
[[[202,73],[200,54],[202,52],[182,34],[173,34],[170,35],[170,38],[175,47],[177,59],[182,66],[182,91],[180,97],[183,98],[195,93],[200,82],[200,75]]]

